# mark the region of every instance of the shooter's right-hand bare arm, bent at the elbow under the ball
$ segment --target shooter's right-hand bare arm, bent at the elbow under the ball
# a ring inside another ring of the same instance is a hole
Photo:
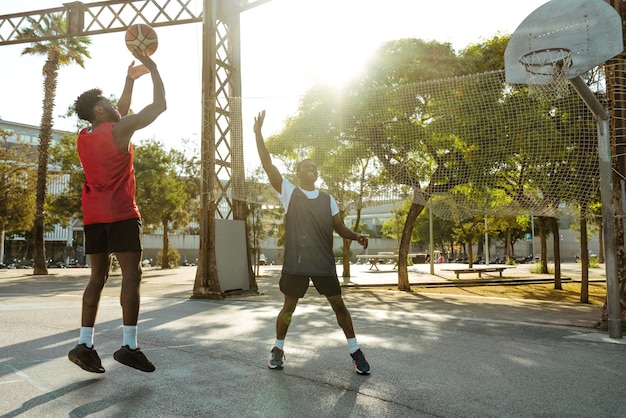
[[[130,138],[135,131],[145,128],[154,122],[167,109],[165,88],[156,64],[150,57],[138,49],[133,51],[133,55],[150,71],[153,84],[152,103],[144,107],[139,113],[123,117],[113,127],[113,138],[121,150],[128,150]]]

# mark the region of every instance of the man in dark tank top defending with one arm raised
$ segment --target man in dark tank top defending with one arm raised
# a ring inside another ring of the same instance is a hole
[[[298,301],[304,297],[309,281],[326,296],[337,322],[343,330],[352,361],[358,374],[369,374],[370,365],[359,348],[352,317],[341,296],[333,255],[333,231],[341,237],[357,241],[367,248],[367,237],[349,229],[339,215],[335,199],[315,188],[317,166],[312,160],[302,160],[296,168],[298,187],[292,184],[272,163],[261,133],[265,111],[254,120],[257,149],[270,184],[278,193],[285,209],[285,261],[280,277],[284,295],[283,307],[276,319],[276,340],[270,352],[268,367],[282,369],[284,342]]]

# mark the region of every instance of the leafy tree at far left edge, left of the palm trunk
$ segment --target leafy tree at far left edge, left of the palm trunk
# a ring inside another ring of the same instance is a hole
[[[35,171],[29,164],[34,150],[9,136],[0,129],[0,262],[5,233],[32,228],[35,202]]]

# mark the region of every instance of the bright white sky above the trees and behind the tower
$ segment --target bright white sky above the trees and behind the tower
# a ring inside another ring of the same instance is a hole
[[[84,0],[88,4],[92,1]],[[341,84],[358,74],[382,43],[401,38],[450,42],[456,50],[510,34],[547,0],[273,0],[242,14],[244,140],[253,141],[253,117],[267,110],[265,136],[296,113],[299,96],[318,83]],[[63,0],[0,0],[0,15],[60,7]],[[202,7],[192,0],[192,8]],[[161,71],[168,110],[133,137],[155,138],[181,148],[201,131],[201,24],[158,28],[153,58]],[[133,57],[124,34],[92,37],[92,59],[59,72],[55,115],[83,91],[100,87],[119,97]],[[44,57],[22,56],[27,44],[0,48],[0,118],[38,125]],[[151,99],[148,76],[137,80],[132,109]],[[74,120],[55,118],[54,128],[73,131]],[[245,158],[248,159],[248,154]],[[254,156],[250,156],[254,158]]]

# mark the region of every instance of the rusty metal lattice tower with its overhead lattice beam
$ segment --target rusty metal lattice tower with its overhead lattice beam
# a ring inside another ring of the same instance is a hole
[[[203,12],[191,0],[111,0],[0,16],[0,46],[122,32],[133,24],[152,27],[203,23],[202,192],[200,257],[194,296],[221,297],[215,257],[215,218],[245,220],[241,116],[240,15],[271,0],[203,0]],[[18,38],[18,29],[53,14],[67,21],[67,33]],[[248,261],[248,264],[250,261]],[[251,289],[256,282],[250,268]]]

